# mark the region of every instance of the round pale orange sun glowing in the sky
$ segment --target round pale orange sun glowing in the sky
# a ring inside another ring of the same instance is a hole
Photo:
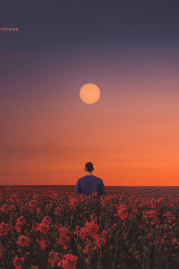
[[[99,100],[100,90],[93,83],[87,83],[80,89],[80,98],[86,104],[94,104]]]

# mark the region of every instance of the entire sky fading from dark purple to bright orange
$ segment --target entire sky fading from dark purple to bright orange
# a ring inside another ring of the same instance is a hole
[[[91,161],[105,185],[178,186],[178,14],[178,1],[1,0],[0,184],[75,185]]]

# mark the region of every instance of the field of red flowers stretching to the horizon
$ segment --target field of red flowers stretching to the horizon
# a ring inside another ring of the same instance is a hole
[[[0,267],[179,268],[179,187],[105,188],[1,186]]]

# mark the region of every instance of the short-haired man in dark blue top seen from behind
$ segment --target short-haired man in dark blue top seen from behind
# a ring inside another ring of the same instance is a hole
[[[106,195],[102,179],[94,176],[92,174],[93,170],[93,164],[91,162],[87,162],[85,164],[86,176],[79,178],[76,183],[75,198],[77,198],[79,193],[89,196],[89,194],[93,194],[94,191],[97,192],[97,197],[100,195]]]

